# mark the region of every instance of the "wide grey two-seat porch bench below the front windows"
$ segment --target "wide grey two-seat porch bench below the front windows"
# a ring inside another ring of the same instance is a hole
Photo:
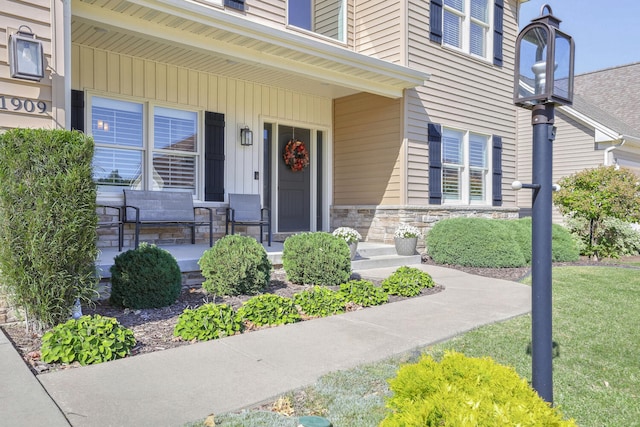
[[[191,243],[195,244],[196,226],[209,226],[209,246],[213,246],[213,211],[207,207],[194,207],[193,196],[186,191],[124,191],[123,224],[135,224],[135,247],[140,242],[143,226],[188,226]],[[208,221],[196,221],[198,209],[209,211]]]

